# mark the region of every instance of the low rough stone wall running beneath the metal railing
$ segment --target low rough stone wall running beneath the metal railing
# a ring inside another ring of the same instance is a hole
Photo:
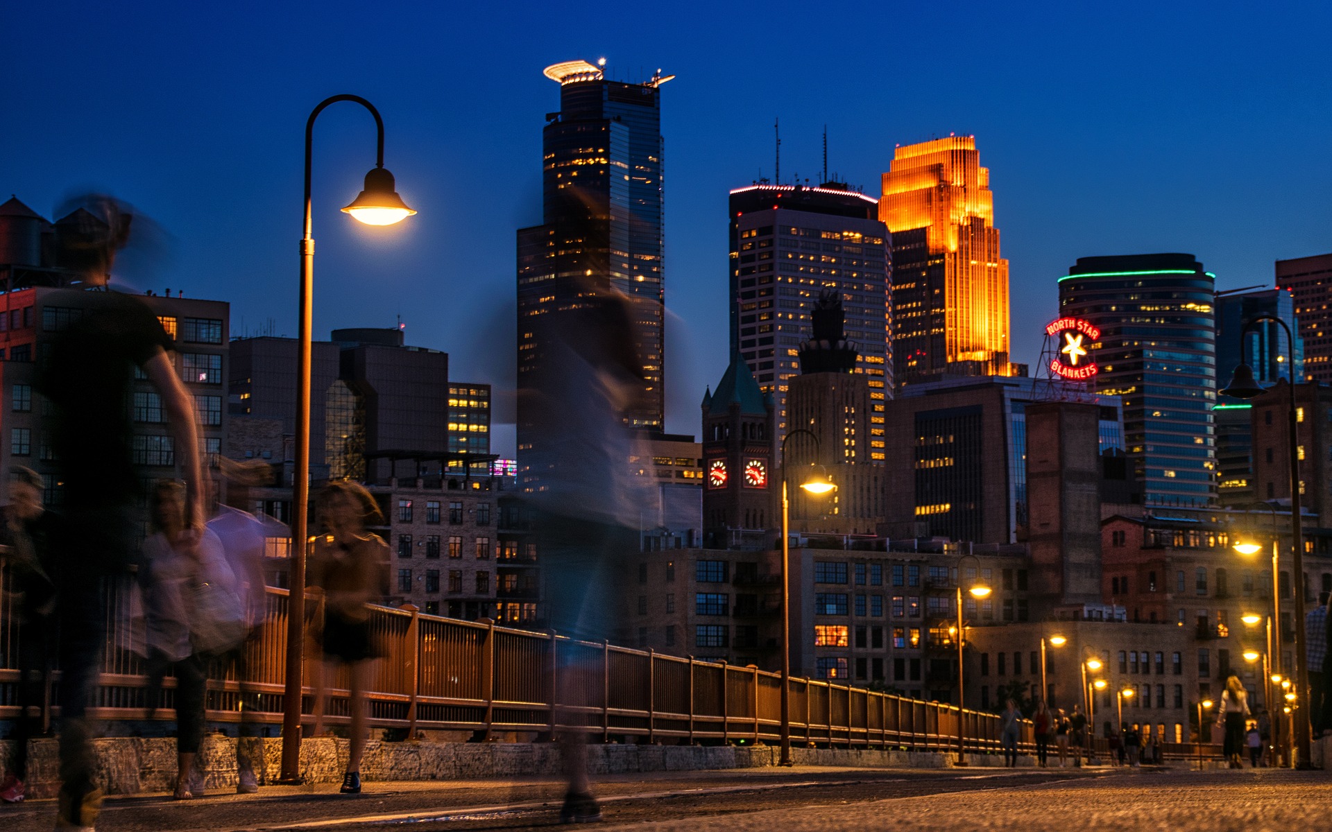
[[[254,771],[261,784],[273,783],[281,769],[282,740],[252,739]],[[226,736],[204,737],[198,760],[205,788],[236,787],[236,743]],[[13,744],[0,743],[9,759]],[[97,780],[108,795],[170,791],[176,779],[176,740],[166,737],[112,737],[95,740]],[[927,751],[874,751],[793,748],[797,765],[868,768],[947,768],[951,753]],[[348,741],[313,737],[301,741],[301,775],[309,783],[337,783],[346,767]],[[1003,765],[998,755],[970,755],[971,765]],[[775,745],[619,745],[587,747],[591,775],[657,771],[765,768],[777,765]],[[1030,757],[1020,760],[1031,765]],[[28,796],[53,797],[59,789],[57,741],[33,740],[28,757]],[[366,781],[388,780],[482,780],[513,776],[558,777],[559,745],[554,743],[366,743],[361,775]]]

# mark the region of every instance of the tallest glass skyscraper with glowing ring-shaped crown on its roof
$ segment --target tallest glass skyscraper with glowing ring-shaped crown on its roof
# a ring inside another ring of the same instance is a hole
[[[543,224],[518,230],[518,389],[558,377],[554,337],[563,313],[589,296],[630,300],[631,363],[643,395],[625,414],[630,427],[661,430],[665,378],[662,294],[661,84],[607,80],[599,67],[567,61],[545,69],[559,83],[559,110],[542,130]],[[518,455],[523,487],[539,487],[523,469],[539,445],[530,397],[519,397]]]

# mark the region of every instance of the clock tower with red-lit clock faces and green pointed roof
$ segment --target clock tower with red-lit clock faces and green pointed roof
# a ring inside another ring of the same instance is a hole
[[[703,394],[703,544],[763,544],[779,522],[773,477],[773,397],[739,354]]]

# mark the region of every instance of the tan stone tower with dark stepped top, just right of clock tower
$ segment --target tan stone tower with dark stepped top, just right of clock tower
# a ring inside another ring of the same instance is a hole
[[[818,437],[818,447],[805,435],[787,443],[786,469],[791,482],[791,528],[834,534],[878,531],[884,518],[884,426],[870,398],[871,377],[855,373],[856,342],[842,327],[842,296],[825,290],[810,304],[813,337],[799,349],[801,374],[791,378],[787,397],[790,427]],[[798,489],[810,465],[823,466],[836,490],[813,497]]]

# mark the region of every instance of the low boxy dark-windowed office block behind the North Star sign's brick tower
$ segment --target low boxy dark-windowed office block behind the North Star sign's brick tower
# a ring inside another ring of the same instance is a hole
[[[887,535],[1016,542],[1028,524],[1026,411],[1044,398],[1036,379],[1011,377],[900,390],[887,413]],[[1119,399],[1098,405],[1098,451],[1112,478],[1124,443]]]

